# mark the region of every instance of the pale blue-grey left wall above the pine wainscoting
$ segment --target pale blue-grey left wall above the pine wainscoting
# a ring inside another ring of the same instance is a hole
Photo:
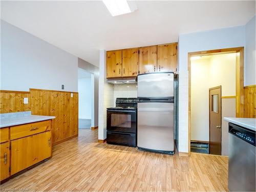
[[[1,90],[61,91],[61,84],[77,92],[77,57],[1,20]]]

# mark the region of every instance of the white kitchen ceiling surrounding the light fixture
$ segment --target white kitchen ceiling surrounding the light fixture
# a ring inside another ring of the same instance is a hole
[[[178,41],[191,33],[245,25],[255,1],[136,1],[112,17],[102,1],[1,1],[1,18],[50,44],[99,65],[99,50]]]

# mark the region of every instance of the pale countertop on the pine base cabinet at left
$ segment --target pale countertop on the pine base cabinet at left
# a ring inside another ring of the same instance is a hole
[[[17,115],[13,115],[17,114]],[[7,126],[14,126],[19,124],[26,124],[26,123],[32,123],[37,121],[45,121],[54,119],[54,116],[44,116],[44,115],[31,115],[31,113],[24,113],[20,112],[18,113],[12,113],[8,116],[8,114],[5,114],[5,116],[1,116],[0,118],[0,127],[7,127]]]

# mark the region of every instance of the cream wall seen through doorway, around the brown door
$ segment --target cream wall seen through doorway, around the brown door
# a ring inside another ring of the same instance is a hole
[[[191,61],[191,140],[209,141],[209,88],[217,86],[221,96],[236,95],[236,53]]]

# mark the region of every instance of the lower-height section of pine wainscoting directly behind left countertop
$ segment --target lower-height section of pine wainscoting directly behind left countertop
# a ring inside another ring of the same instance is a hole
[[[24,98],[29,98],[30,94],[26,91],[0,91],[0,113],[14,113],[30,111],[30,102],[24,104]],[[30,100],[30,98],[29,98]]]

